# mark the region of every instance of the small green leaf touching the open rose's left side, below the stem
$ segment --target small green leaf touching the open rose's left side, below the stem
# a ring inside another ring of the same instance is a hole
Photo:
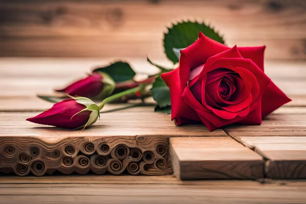
[[[156,101],[160,108],[171,105],[170,89],[160,76],[155,79],[150,91],[152,92],[154,101]]]

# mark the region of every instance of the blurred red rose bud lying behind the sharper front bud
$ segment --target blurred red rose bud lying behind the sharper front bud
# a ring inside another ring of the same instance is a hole
[[[104,72],[93,72],[91,75],[72,83],[65,91],[72,96],[84,96],[91,99],[103,99],[109,96],[115,89],[115,82]]]

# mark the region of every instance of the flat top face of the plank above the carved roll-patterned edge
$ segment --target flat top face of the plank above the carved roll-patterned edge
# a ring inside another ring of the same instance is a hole
[[[35,137],[55,143],[66,137],[100,136],[227,136],[218,129],[209,132],[204,125],[176,126],[169,114],[154,113],[153,106],[135,107],[113,113],[102,113],[86,131],[67,131],[25,121],[37,112],[1,112],[0,136]],[[18,128],[14,128],[18,127]]]

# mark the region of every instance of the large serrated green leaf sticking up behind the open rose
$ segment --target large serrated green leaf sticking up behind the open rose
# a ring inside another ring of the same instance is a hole
[[[197,40],[200,31],[207,37],[224,44],[224,40],[219,33],[205,23],[188,21],[173,24],[173,27],[168,28],[168,33],[164,35],[164,47],[168,59],[173,63],[177,63],[179,56],[177,51],[193,44]],[[176,49],[174,50],[173,48]]]

